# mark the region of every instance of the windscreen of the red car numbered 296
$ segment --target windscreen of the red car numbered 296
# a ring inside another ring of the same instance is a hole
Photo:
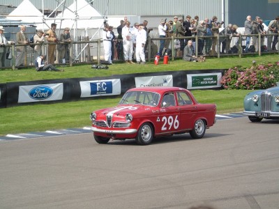
[[[128,91],[123,95],[119,104],[144,104],[156,107],[160,100],[160,94],[150,91]]]

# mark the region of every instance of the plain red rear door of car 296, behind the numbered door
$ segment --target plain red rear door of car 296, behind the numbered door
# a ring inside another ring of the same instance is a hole
[[[176,93],[176,97],[181,118],[181,130],[189,130],[192,128],[191,125],[193,124],[193,120],[197,114],[197,106],[191,100],[188,93],[184,91],[178,91]]]

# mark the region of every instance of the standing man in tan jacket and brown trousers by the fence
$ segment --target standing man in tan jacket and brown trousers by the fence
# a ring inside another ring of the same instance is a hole
[[[52,23],[51,29],[47,31],[47,42],[49,43],[54,43],[54,42],[59,42],[55,30],[56,30],[56,25],[55,23]],[[55,49],[56,45],[47,45],[47,59],[48,63],[54,64],[54,54],[55,54]]]

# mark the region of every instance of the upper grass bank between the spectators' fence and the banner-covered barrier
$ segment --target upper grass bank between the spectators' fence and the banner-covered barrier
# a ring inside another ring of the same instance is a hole
[[[64,72],[37,72],[34,68],[21,70],[0,70],[0,84],[6,82],[24,82],[41,79],[66,79],[75,77],[107,77],[110,75],[132,74],[141,72],[162,72],[175,70],[202,70],[202,69],[228,69],[236,65],[250,67],[252,61],[257,63],[279,61],[278,54],[264,54],[262,56],[246,56],[239,58],[238,56],[229,56],[206,59],[203,63],[186,62],[181,59],[170,61],[169,65],[163,65],[160,61],[159,65],[147,63],[146,65],[131,65],[126,63],[116,63],[110,65],[108,70],[94,70],[91,64],[75,65],[74,67],[58,67],[63,68]]]

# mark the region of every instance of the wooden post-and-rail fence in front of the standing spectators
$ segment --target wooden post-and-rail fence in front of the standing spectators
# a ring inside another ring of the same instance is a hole
[[[172,61],[174,61],[174,59],[178,58],[178,54],[176,53],[178,51],[178,49],[176,49],[176,40],[184,40],[185,44],[187,45],[188,40],[193,40],[193,42],[195,43],[195,53],[196,56],[198,56],[198,48],[199,48],[199,39],[200,40],[213,40],[216,39],[216,54],[209,54],[209,56],[216,56],[218,58],[220,58],[220,56],[239,56],[241,57],[243,55],[243,46],[246,45],[246,38],[247,37],[251,37],[251,38],[257,38],[257,45],[255,46],[255,52],[248,52],[246,54],[258,54],[259,56],[262,54],[268,54],[268,53],[279,53],[278,52],[278,44],[276,47],[276,50],[272,50],[270,52],[267,52],[266,50],[262,50],[262,39],[264,39],[264,45],[267,44],[266,42],[266,38],[272,36],[271,39],[273,39],[274,36],[278,36],[278,34],[251,34],[251,35],[243,35],[243,34],[239,34],[239,36],[231,36],[231,44],[230,47],[232,47],[233,45],[235,45],[237,47],[237,52],[236,51],[232,51],[230,53],[221,53],[220,48],[222,47],[222,42],[220,42],[221,39],[225,39],[225,38],[229,38],[229,36],[219,36],[219,34],[217,36],[190,36],[190,37],[170,37],[170,38],[151,38],[149,37],[147,42],[149,43],[147,45],[147,52],[146,52],[146,59],[148,61],[151,61],[152,59],[154,59],[154,54],[152,54],[152,49],[151,49],[151,42],[155,43],[158,48],[160,48],[160,40],[165,40],[167,42],[169,42],[169,50],[170,52],[172,52],[170,54],[170,56],[172,57]],[[93,62],[97,62],[98,64],[100,64],[100,60],[103,58],[103,47],[102,47],[102,39],[96,39],[96,40],[82,40],[82,41],[77,41],[77,42],[70,42],[70,44],[68,44],[68,50],[69,50],[69,59],[68,61],[65,63],[65,65],[70,65],[73,66],[75,65],[75,63],[93,63]],[[121,42],[121,40],[117,40],[117,42]],[[250,40],[250,45],[252,43],[252,40]],[[47,54],[47,47],[49,45],[59,45],[59,44],[65,44],[63,42],[60,43],[50,43],[50,42],[42,42],[40,44],[30,44],[30,45],[6,45],[5,47],[5,51],[4,52],[9,52],[10,56],[8,58],[8,54],[6,54],[6,60],[4,61],[4,63],[2,63],[2,67],[1,68],[12,68],[13,70],[15,70],[15,59],[17,56],[17,51],[16,51],[16,47],[17,46],[24,46],[24,50],[26,52],[26,56],[25,56],[25,60],[24,60],[24,67],[28,68],[28,67],[33,67],[34,65],[34,59],[36,59],[34,57],[34,51],[33,51],[33,47],[31,47],[32,45],[41,45],[41,54]],[[123,59],[123,54],[118,54],[117,53],[123,53],[123,50],[121,52],[118,52],[116,50],[117,47],[114,44],[114,51],[116,54],[114,56],[114,60],[122,60]],[[61,63],[60,63],[61,64]]]

